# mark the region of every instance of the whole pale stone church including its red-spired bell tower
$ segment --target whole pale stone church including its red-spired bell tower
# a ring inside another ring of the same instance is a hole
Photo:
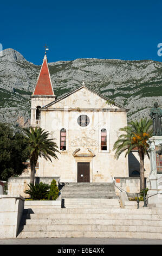
[[[112,182],[112,176],[129,176],[125,153],[115,160],[113,151],[119,129],[127,125],[127,109],[85,82],[57,99],[46,54],[31,95],[30,125],[49,131],[60,151],[59,160],[39,159],[38,176],[60,176],[60,182]]]

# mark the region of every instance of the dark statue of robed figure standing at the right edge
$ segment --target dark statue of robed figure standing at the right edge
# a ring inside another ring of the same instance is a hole
[[[162,109],[158,107],[158,103],[154,103],[154,107],[151,108],[150,117],[153,119],[153,136],[162,135],[161,129],[161,117]]]

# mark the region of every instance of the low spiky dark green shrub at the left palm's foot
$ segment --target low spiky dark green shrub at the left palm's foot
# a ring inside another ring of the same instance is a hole
[[[30,194],[31,199],[41,200],[48,198],[48,192],[50,186],[46,183],[40,182],[40,184],[28,184],[29,190],[25,190],[25,194]]]

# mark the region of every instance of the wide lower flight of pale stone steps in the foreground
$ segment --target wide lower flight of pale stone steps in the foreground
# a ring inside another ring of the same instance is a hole
[[[17,238],[126,237],[162,239],[162,209],[25,209]]]

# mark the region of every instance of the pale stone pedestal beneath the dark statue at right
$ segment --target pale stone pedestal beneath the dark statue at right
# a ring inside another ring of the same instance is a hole
[[[147,178],[147,198],[148,206],[162,207],[162,155],[158,154],[161,150],[162,136],[153,136],[147,143],[150,145],[151,172]]]

